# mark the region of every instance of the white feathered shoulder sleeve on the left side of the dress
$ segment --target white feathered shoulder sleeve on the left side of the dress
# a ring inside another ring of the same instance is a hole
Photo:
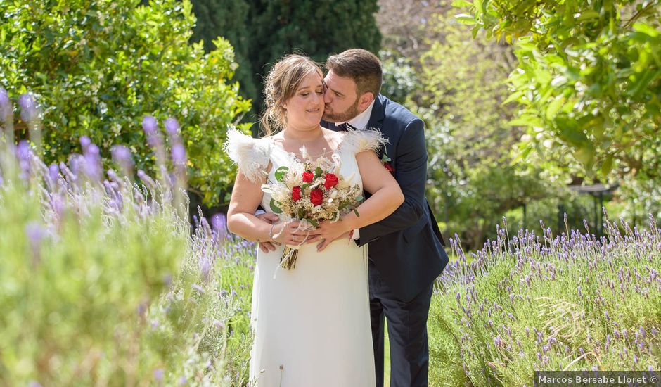
[[[262,182],[269,166],[268,141],[254,139],[231,127],[227,131],[224,150],[245,177],[253,183]]]

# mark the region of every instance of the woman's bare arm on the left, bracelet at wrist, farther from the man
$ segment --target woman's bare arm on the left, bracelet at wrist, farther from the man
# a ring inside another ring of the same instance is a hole
[[[255,216],[255,210],[262,201],[262,195],[262,184],[252,182],[243,173],[238,172],[227,210],[229,231],[256,242],[276,241],[297,245],[300,241],[304,241],[307,234],[303,231],[294,231],[297,229],[298,222],[270,224]]]

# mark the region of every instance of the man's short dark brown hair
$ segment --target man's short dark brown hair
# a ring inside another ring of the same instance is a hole
[[[381,61],[373,53],[364,49],[349,49],[332,55],[326,60],[326,69],[340,77],[348,77],[356,82],[358,96],[369,91],[378,96],[383,82]]]

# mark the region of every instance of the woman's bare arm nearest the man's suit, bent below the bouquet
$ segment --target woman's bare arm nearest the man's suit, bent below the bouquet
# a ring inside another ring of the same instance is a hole
[[[319,251],[348,231],[385,219],[404,203],[404,194],[397,180],[383,167],[376,153],[373,151],[357,153],[356,160],[363,189],[371,196],[356,209],[360,216],[356,216],[352,211],[344,215],[340,222],[326,221],[319,224],[316,234],[319,234],[319,239],[324,239],[319,243]]]

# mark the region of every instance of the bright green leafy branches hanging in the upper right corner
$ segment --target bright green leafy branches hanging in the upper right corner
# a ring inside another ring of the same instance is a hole
[[[457,16],[473,36],[513,42],[508,101],[527,127],[522,155],[570,153],[588,176],[661,181],[658,0],[482,0]]]

